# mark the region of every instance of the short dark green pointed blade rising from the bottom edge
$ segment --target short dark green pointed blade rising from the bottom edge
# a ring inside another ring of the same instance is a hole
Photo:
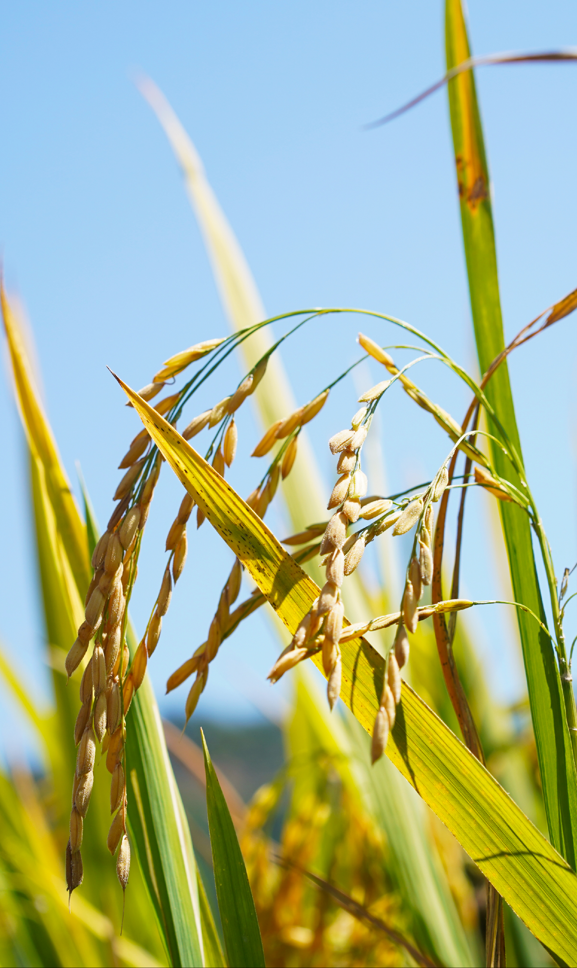
[[[220,789],[215,768],[204,738],[204,766],[207,777],[207,811],[213,851],[216,897],[222,922],[224,945],[231,965],[262,965],[265,955],[245,861],[237,834]]]

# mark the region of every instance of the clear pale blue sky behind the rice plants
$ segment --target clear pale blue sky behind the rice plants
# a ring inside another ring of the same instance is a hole
[[[571,0],[475,0],[470,27],[476,53],[577,45]],[[443,74],[443,45],[442,4],[431,0],[3,4],[5,278],[31,321],[73,485],[79,461],[102,526],[116,467],[138,430],[106,365],[138,387],[168,355],[227,330],[182,178],[131,77],[151,76],[181,117],[269,314],[310,305],[381,310],[426,330],[475,371],[447,94],[385,129],[361,130]],[[577,66],[483,69],[477,85],[510,338],[577,285]],[[529,480],[560,575],[577,559],[575,319],[519,350],[510,367]],[[299,403],[356,358],[358,328],[354,319],[325,320],[305,345],[283,349]],[[398,339],[385,327],[364,328],[382,343]],[[239,376],[231,364],[202,408]],[[378,378],[367,369],[361,388]],[[466,395],[441,368],[419,368],[418,383],[455,416],[464,411]],[[327,493],[326,440],[349,420],[358,388],[347,381],[311,433]],[[381,421],[391,488],[426,479],[443,460],[447,438],[430,423],[400,391],[391,397]],[[258,436],[246,412],[245,453]],[[25,452],[7,376],[0,447],[0,635],[47,702]],[[245,494],[260,472],[245,460],[230,479]],[[132,609],[137,628],[156,596],[163,535],[180,500],[180,486],[164,476]],[[488,520],[486,501],[472,499],[465,587],[480,597],[500,588]],[[191,544],[150,665],[159,697],[167,675],[204,640],[231,561],[207,525]],[[568,620],[573,626],[575,634]],[[516,698],[510,617],[485,610],[476,630],[494,688]],[[264,679],[278,649],[267,620],[254,617],[219,654],[199,714],[277,714],[282,690]],[[162,710],[182,711],[185,696],[186,687],[160,699]],[[13,713],[2,705],[12,748]]]

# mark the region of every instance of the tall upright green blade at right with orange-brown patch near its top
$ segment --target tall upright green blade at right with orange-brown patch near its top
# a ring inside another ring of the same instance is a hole
[[[447,0],[447,70],[471,54],[461,0]],[[489,172],[485,157],[475,76],[467,71],[448,82],[455,164],[459,184],[463,241],[471,308],[481,373],[505,348]],[[521,453],[506,362],[485,387],[506,433]],[[499,431],[490,427],[499,437]],[[519,484],[501,448],[491,441],[497,471]],[[546,621],[534,563],[527,515],[515,504],[499,501],[513,596]],[[577,859],[577,781],[563,706],[563,693],[550,639],[528,615],[518,611],[534,738],[552,843],[573,868]]]

